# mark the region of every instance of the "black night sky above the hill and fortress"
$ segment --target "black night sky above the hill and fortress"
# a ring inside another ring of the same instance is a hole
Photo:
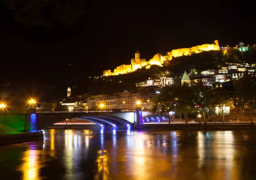
[[[7,8],[2,1],[2,83],[31,77],[57,82],[66,76],[101,75],[105,69],[113,71],[116,66],[129,64],[136,50],[149,60],[157,52],[164,54],[214,40],[221,46],[234,46],[239,41],[256,43],[256,4],[246,3],[249,1],[73,2],[75,10],[65,6],[57,11],[54,3],[43,7],[33,4],[32,8],[20,3],[11,10],[14,6],[7,4]],[[26,12],[25,17],[20,12]]]

